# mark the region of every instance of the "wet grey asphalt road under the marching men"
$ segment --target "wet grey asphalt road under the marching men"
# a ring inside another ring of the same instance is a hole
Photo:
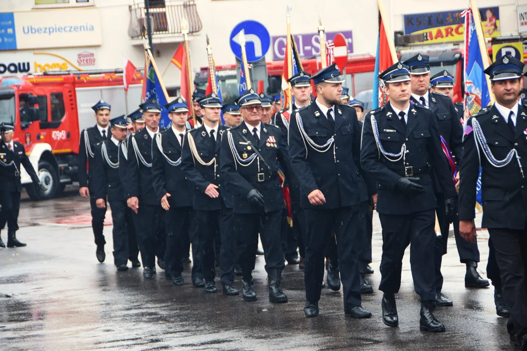
[[[506,319],[495,314],[493,289],[464,287],[464,265],[453,237],[443,258],[443,292],[454,307],[440,307],[436,317],[445,333],[419,331],[419,298],[413,290],[407,250],[397,297],[400,324],[382,323],[377,290],[382,252],[378,217],[374,217],[375,294],[363,295],[370,319],[344,318],[341,291],[323,290],[320,316],[306,318],[304,279],[298,266],[282,274],[287,304],[268,300],[264,258],[257,258],[257,302],[241,296],[207,294],[193,288],[191,265],[185,284],[173,286],[158,268],[152,280],[142,268],[116,272],[111,254],[111,226],[104,228],[106,261],[95,258],[89,202],[66,187],[63,197],[21,205],[17,237],[24,248],[0,248],[0,350],[514,350]],[[23,194],[24,198],[24,194]],[[106,214],[106,221],[111,216]],[[6,240],[6,230],[2,238]],[[485,273],[487,232],[479,247]],[[235,285],[241,288],[240,277]],[[217,279],[219,283],[219,278]]]

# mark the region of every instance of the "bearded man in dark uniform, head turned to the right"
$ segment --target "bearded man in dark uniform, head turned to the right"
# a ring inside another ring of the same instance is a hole
[[[369,318],[372,314],[361,306],[357,233],[366,225],[368,193],[375,189],[360,175],[355,109],[340,104],[344,77],[333,64],[311,79],[317,98],[294,113],[289,124],[289,156],[303,192],[300,205],[307,223],[304,313],[318,316],[324,250],[335,233],[345,317]]]

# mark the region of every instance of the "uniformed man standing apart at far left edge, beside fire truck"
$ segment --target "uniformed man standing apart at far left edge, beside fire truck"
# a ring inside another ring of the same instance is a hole
[[[7,247],[23,247],[25,243],[16,238],[18,210],[20,208],[20,165],[24,166],[35,187],[43,188],[35,169],[27,158],[24,145],[13,141],[14,127],[10,123],[0,124],[0,232],[7,223]],[[0,247],[5,247],[0,236]]]

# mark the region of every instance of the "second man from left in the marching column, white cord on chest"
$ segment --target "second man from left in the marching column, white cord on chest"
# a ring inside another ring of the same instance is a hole
[[[119,143],[126,139],[126,115],[110,119],[110,140],[95,145],[95,157],[92,175],[92,189],[97,208],[105,209],[106,199],[112,209],[113,222],[113,261],[119,272],[128,270],[129,227],[133,226],[131,218],[126,219],[127,197],[124,194],[119,175]],[[137,256],[135,256],[136,258]]]

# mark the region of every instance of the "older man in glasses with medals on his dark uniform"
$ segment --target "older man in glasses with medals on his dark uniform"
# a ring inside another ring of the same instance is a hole
[[[241,243],[242,297],[246,301],[257,299],[252,270],[260,233],[269,277],[269,301],[285,303],[287,296],[280,287],[285,266],[281,244],[284,195],[278,179],[278,161],[289,164],[286,141],[278,127],[261,122],[262,102],[252,89],[243,92],[237,103],[243,122],[222,136],[220,164],[227,190],[232,192],[234,228]]]

